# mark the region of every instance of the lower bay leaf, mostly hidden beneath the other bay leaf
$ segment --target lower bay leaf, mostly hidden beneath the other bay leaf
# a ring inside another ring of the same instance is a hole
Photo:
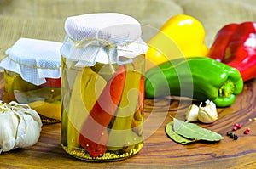
[[[195,139],[188,139],[184,138],[183,136],[177,134],[177,132],[173,131],[173,121],[169,122],[166,125],[166,134],[172,138],[173,141],[177,142],[178,144],[189,144],[191,142],[195,142]]]

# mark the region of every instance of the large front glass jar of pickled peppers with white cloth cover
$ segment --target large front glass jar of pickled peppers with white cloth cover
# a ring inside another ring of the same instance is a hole
[[[84,14],[67,18],[65,29],[62,148],[84,161],[119,161],[137,154],[143,148],[148,49],[140,24],[123,14]]]

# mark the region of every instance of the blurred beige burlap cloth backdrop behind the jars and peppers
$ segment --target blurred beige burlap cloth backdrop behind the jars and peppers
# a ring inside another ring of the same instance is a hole
[[[0,0],[0,59],[20,37],[62,42],[68,16],[96,12],[129,14],[160,28],[175,14],[189,14],[205,26],[208,46],[223,25],[256,21],[254,0]],[[143,32],[147,40],[152,32]],[[148,35],[147,35],[148,34]]]

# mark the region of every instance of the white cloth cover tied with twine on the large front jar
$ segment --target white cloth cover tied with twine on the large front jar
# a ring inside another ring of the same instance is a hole
[[[78,61],[76,66],[92,66],[96,62],[121,65],[148,50],[141,38],[140,23],[125,14],[98,13],[68,17],[65,30],[67,36],[61,54]],[[125,57],[125,61],[120,57]]]

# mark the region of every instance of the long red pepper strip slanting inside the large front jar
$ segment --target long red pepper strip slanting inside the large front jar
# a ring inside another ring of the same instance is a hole
[[[125,66],[121,65],[104,87],[90,115],[84,121],[79,143],[92,157],[102,155],[107,150],[108,124],[118,107],[124,84]]]

